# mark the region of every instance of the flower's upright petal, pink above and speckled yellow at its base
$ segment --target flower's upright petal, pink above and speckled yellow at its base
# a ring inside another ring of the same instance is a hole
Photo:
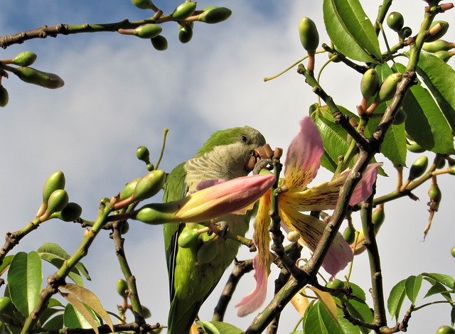
[[[299,134],[287,151],[284,184],[290,190],[304,190],[318,172],[323,151],[318,128],[310,117],[304,117],[300,121]]]

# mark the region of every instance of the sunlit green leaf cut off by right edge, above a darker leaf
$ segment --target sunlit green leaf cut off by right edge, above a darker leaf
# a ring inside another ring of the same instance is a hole
[[[417,65],[417,73],[437,100],[452,132],[455,131],[455,70],[444,60],[426,52],[420,53]]]

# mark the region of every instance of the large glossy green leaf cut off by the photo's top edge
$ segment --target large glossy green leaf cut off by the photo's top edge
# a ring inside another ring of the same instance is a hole
[[[371,55],[382,59],[378,36],[358,0],[324,0],[323,18],[328,36],[343,55],[365,63]]]

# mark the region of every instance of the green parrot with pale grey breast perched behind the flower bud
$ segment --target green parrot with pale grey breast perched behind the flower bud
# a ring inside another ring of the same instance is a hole
[[[169,173],[164,185],[164,202],[178,200],[196,191],[200,181],[230,180],[247,176],[257,161],[255,149],[265,144],[262,134],[250,126],[216,131],[203,144],[196,156],[181,163]],[[250,215],[225,215],[230,232],[244,236]],[[215,288],[225,269],[232,263],[240,244],[204,232],[197,239],[181,247],[178,237],[191,234],[209,222],[167,223],[164,247],[169,274],[171,308],[168,333],[188,333],[202,303]],[[210,241],[209,241],[210,240]]]

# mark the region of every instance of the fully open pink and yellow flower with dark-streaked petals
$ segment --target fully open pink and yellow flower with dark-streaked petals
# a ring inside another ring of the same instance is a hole
[[[299,243],[314,252],[326,223],[310,215],[305,215],[301,211],[335,208],[341,185],[346,181],[349,170],[341,173],[333,181],[306,188],[319,170],[323,143],[316,125],[309,117],[304,117],[300,126],[299,134],[291,142],[287,151],[283,181],[287,191],[279,195],[278,207],[284,230],[299,232]],[[355,187],[353,196],[350,198],[350,205],[360,203],[371,195],[373,183],[378,175],[378,166],[380,163],[372,163],[368,166],[361,181]],[[237,303],[238,316],[246,316],[256,311],[264,303],[267,294],[267,278],[272,262],[269,252],[270,218],[267,215],[269,209],[270,192],[267,192],[259,201],[253,235],[253,241],[257,247],[257,255],[254,260],[256,288]],[[352,249],[338,232],[322,266],[329,274],[335,276],[352,259]]]

